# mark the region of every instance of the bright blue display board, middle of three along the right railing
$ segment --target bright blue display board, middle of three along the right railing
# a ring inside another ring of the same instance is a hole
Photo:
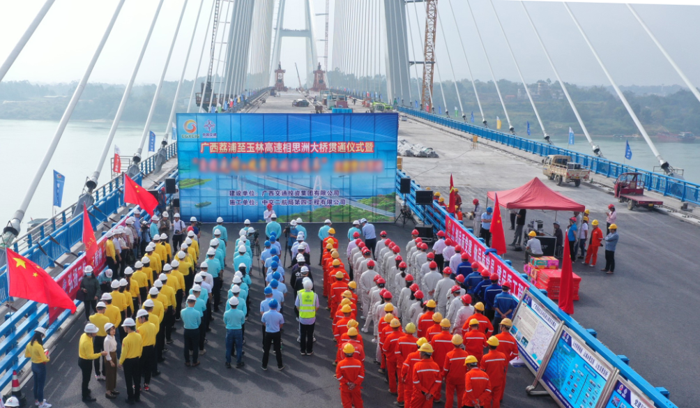
[[[595,408],[612,374],[609,363],[565,327],[542,374],[542,383],[562,407]]]

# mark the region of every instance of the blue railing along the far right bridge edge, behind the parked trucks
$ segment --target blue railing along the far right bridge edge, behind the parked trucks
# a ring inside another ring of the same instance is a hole
[[[696,183],[689,183],[675,177],[657,174],[645,169],[638,169],[637,167],[613,162],[612,160],[603,159],[601,157],[586,155],[584,153],[575,152],[566,148],[552,146],[547,143],[533,141],[521,136],[498,132],[497,130],[472,125],[471,123],[445,118],[444,116],[419,111],[418,109],[414,108],[399,106],[398,110],[409,115],[416,116],[416,118],[429,120],[430,122],[435,122],[438,125],[443,125],[445,127],[456,129],[468,134],[475,134],[476,136],[484,139],[502,143],[505,146],[524,150],[535,155],[567,155],[571,157],[573,162],[580,163],[583,167],[591,169],[591,171],[593,171],[595,174],[603,174],[606,177],[617,178],[617,176],[620,174],[627,172],[639,173],[643,176],[643,181],[647,190],[657,192],[666,197],[679,199],[681,202],[700,204],[700,185]]]

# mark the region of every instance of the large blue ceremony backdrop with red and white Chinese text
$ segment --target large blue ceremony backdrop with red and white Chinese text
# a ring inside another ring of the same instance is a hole
[[[396,113],[179,113],[177,136],[184,218],[394,220]]]

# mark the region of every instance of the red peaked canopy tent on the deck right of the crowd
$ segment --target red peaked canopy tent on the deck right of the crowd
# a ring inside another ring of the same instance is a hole
[[[579,212],[586,209],[586,206],[583,204],[578,204],[573,199],[564,197],[547,187],[537,177],[512,190],[489,191],[489,199],[493,199],[496,193],[498,193],[498,204],[505,206],[507,209]]]

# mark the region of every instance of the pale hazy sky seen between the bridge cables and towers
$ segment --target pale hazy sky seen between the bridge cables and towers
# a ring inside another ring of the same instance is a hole
[[[196,63],[202,50],[204,28],[207,25],[206,20],[209,17],[211,1],[213,0],[204,0],[200,27],[197,29],[186,78],[195,76]],[[3,61],[14,47],[43,3],[44,0],[5,0],[0,3],[0,38],[2,38],[0,41],[0,61]],[[41,83],[78,80],[83,75],[85,66],[92,57],[117,3],[117,0],[56,1],[4,80],[30,80]],[[476,78],[489,80],[490,73],[486,66],[484,53],[477,42],[475,27],[468,14],[466,3],[463,0],[451,0],[451,3],[454,6],[457,20],[461,24],[460,30],[472,71]],[[127,82],[157,4],[157,0],[126,1],[113,33],[102,52],[102,57],[95,66],[90,78],[91,82]],[[302,0],[287,0],[286,28],[300,28],[301,4]],[[331,0],[330,4],[332,31],[335,0]],[[472,0],[471,4],[496,76],[519,81],[489,1]],[[494,4],[501,22],[505,26],[508,39],[515,50],[525,80],[527,82],[546,78],[554,80],[554,74],[524,17],[520,3],[518,1],[494,0]],[[165,1],[137,83],[158,81],[182,5],[183,0]],[[187,12],[166,76],[167,80],[177,80],[180,76],[199,6],[200,0],[188,2]],[[561,3],[528,1],[526,6],[542,35],[543,41],[549,48],[555,64],[561,71],[563,80],[581,85],[608,85],[603,71],[591,55]],[[421,3],[418,3],[420,27],[416,28],[413,5],[411,3],[408,5],[414,36],[414,44],[412,45],[417,53],[422,52],[423,7]],[[458,79],[468,78],[463,51],[457,38],[454,20],[449,13],[447,0],[440,1],[439,7],[440,24],[444,24],[446,36],[445,38],[442,36],[442,32],[438,31],[436,55],[437,61],[442,67],[442,79],[451,79],[451,71],[446,58],[447,52],[451,55],[456,77]],[[696,85],[700,83],[700,59],[697,57],[700,43],[696,41],[697,38],[700,38],[700,24],[697,24],[698,17],[700,17],[698,6],[638,5],[635,7],[687,76]],[[314,8],[315,13],[323,13],[325,0],[314,0]],[[571,8],[598,49],[598,53],[607,64],[612,76],[620,85],[681,83],[675,71],[624,5],[574,3]],[[323,19],[323,16],[314,19],[316,35],[319,38],[323,37]],[[332,32],[330,35],[330,48],[332,48]],[[322,60],[323,42],[319,41],[317,45],[318,57]],[[208,62],[208,43],[206,48],[200,75],[204,73],[204,67]],[[289,75],[290,72],[293,73],[294,62],[299,64],[301,76],[304,78],[304,53],[305,49],[300,38],[289,38],[283,42],[282,64],[288,70],[288,85],[294,86],[297,83],[296,76]],[[329,50],[329,53],[332,54],[332,50]],[[382,62],[382,64],[384,63]],[[412,70],[412,74],[413,72]]]

